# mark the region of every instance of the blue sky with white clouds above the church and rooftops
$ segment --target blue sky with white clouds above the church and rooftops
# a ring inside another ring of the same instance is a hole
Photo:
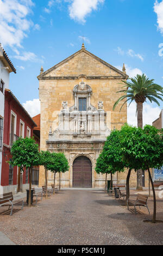
[[[47,70],[78,51],[83,35],[88,51],[162,85],[163,0],[0,0],[0,42],[17,69],[10,90],[31,115],[39,111],[41,65]],[[145,122],[157,118],[161,107],[146,104]],[[133,124],[134,111],[133,104]]]

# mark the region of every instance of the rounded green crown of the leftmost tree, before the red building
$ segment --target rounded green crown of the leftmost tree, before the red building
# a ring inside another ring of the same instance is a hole
[[[34,138],[18,138],[11,148],[13,166],[18,166],[23,171],[23,167],[30,168],[39,165],[39,145]]]

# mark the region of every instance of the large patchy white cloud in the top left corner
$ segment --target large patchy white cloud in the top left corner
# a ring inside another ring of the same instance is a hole
[[[0,41],[3,46],[22,47],[23,38],[33,26],[27,19],[33,5],[30,0],[0,0]]]

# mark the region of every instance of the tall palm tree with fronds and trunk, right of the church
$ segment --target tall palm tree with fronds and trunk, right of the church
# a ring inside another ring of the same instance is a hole
[[[120,93],[124,93],[114,104],[113,110],[115,110],[118,103],[121,100],[125,100],[122,104],[121,109],[123,106],[130,100],[129,105],[131,102],[135,100],[137,104],[136,113],[137,113],[137,127],[143,128],[143,119],[142,119],[142,112],[143,112],[143,103],[146,102],[148,99],[151,103],[155,102],[160,106],[158,99],[162,100],[163,96],[163,88],[160,85],[154,83],[154,79],[149,80],[145,74],[143,75],[136,75],[135,78],[130,78],[131,81],[122,81],[122,91],[118,91]],[[137,189],[142,189],[142,175],[141,170],[137,171]]]

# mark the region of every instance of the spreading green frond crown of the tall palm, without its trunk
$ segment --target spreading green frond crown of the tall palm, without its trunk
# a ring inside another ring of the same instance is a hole
[[[157,99],[162,100],[163,96],[163,88],[160,85],[154,83],[154,80],[149,80],[145,74],[137,75],[135,78],[130,78],[131,82],[129,81],[122,81],[122,85],[124,90],[118,91],[120,93],[124,93],[114,104],[113,110],[116,108],[117,104],[121,102],[121,100],[125,100],[121,106],[121,109],[126,102],[130,100],[130,103],[135,100],[136,102],[142,102],[142,97],[144,101],[147,99],[152,103],[155,102],[159,104]],[[117,93],[118,93],[117,92]],[[120,109],[120,111],[121,111]]]

